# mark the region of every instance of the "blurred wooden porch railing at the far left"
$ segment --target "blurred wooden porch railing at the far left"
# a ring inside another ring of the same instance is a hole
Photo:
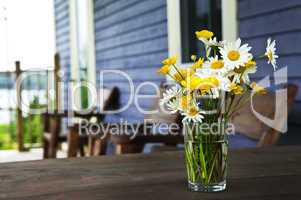
[[[1,105],[0,112],[9,113],[9,133],[13,134],[13,131],[16,132],[17,139],[17,148],[19,151],[26,150],[24,145],[24,130],[25,124],[24,119],[26,117],[26,123],[30,123],[27,125],[27,133],[29,145],[32,145],[32,131],[33,126],[31,125],[33,114],[31,112],[27,112],[31,109],[32,102],[35,101],[36,106],[47,107],[48,104],[53,103],[57,108],[60,104],[59,101],[59,76],[58,72],[60,70],[60,62],[59,55],[56,54],[54,56],[54,67],[47,69],[38,69],[38,70],[24,70],[22,69],[22,63],[20,61],[15,62],[15,70],[14,71],[2,71],[0,72],[0,77],[2,77],[3,83],[1,85],[1,90],[4,93],[7,93],[8,103],[9,105]],[[28,75],[28,76],[27,76]],[[17,87],[19,77],[27,76],[27,78],[22,82],[20,87]],[[54,99],[50,98],[49,90],[54,89]],[[16,103],[12,105],[12,99],[16,99]],[[22,107],[22,102],[26,100],[26,103],[29,103],[29,108]],[[1,101],[1,98],[0,98]],[[53,101],[53,102],[50,102]],[[28,110],[29,109],[29,110]],[[26,111],[26,112],[25,112]],[[15,130],[14,127],[15,125]],[[1,134],[1,133],[0,133]]]

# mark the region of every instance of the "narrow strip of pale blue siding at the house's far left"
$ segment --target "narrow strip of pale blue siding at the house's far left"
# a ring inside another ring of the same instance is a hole
[[[55,34],[56,34],[56,51],[60,55],[61,70],[64,72],[62,77],[64,81],[70,79],[70,44],[69,44],[69,1],[55,0]],[[68,106],[67,87],[64,88],[64,104]]]

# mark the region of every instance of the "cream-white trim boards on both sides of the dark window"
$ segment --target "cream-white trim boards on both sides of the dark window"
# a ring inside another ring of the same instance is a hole
[[[177,55],[179,65],[187,68],[192,63],[182,62],[180,5],[180,0],[167,0],[168,55]],[[237,0],[222,0],[222,39],[235,41],[237,26]]]

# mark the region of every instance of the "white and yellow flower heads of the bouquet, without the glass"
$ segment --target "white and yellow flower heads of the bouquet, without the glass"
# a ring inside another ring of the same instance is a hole
[[[263,87],[250,82],[249,75],[256,73],[257,64],[248,44],[242,44],[241,39],[235,42],[218,41],[208,30],[197,31],[196,36],[204,44],[206,52],[203,57],[192,55],[194,63],[187,69],[176,66],[176,57],[168,58],[158,70],[177,83],[163,94],[161,100],[170,112],[181,112],[185,122],[202,122],[204,110],[207,109],[200,108],[196,96],[211,96],[214,101],[221,92],[230,97],[242,96],[248,91],[265,92]],[[274,70],[278,58],[275,45],[275,41],[268,39],[266,52],[262,56],[267,58]]]

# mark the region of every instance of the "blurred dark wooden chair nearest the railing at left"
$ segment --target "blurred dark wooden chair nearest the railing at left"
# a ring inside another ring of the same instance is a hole
[[[116,87],[112,89],[102,88],[99,91],[99,107],[90,113],[80,114],[73,112],[73,118],[86,119],[90,121],[92,118],[96,118],[97,123],[104,120],[105,115],[101,111],[108,110],[110,108],[116,108],[118,105],[119,91]],[[87,134],[79,135],[78,129],[79,124],[74,123],[67,130],[67,133],[61,134],[62,123],[64,118],[69,117],[68,111],[55,112],[55,113],[44,113],[42,114],[43,120],[43,156],[44,158],[56,158],[56,152],[59,144],[63,142],[68,142],[68,157],[75,157],[78,152],[81,156],[85,155],[84,145],[89,144],[89,154],[92,154],[98,144],[98,148],[101,148],[101,153],[103,149],[106,148],[106,142],[89,137]]]

